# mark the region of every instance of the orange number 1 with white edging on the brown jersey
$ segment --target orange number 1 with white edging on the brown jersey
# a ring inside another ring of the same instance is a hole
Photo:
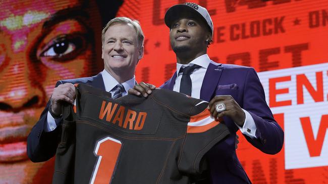
[[[97,142],[94,154],[98,156],[98,159],[92,172],[90,184],[111,182],[121,148],[121,141],[111,137],[105,137]]]

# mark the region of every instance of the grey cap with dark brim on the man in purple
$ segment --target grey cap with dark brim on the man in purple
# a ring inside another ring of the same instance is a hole
[[[174,5],[165,13],[164,22],[165,24],[171,28],[173,21],[176,21],[177,18],[184,15],[184,13],[190,14],[190,16],[198,15],[202,20],[204,20],[209,26],[212,36],[213,36],[213,22],[211,17],[209,16],[207,10],[195,3],[185,3]]]

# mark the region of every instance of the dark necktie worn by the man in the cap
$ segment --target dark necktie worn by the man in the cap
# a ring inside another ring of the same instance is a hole
[[[193,72],[196,68],[200,68],[201,66],[194,64],[192,66],[186,66],[184,68],[180,68],[180,72],[182,72],[182,78],[180,82],[180,93],[186,94],[188,96],[191,96],[191,78],[190,74]]]

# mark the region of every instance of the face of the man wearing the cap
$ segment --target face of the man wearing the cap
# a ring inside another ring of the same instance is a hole
[[[206,53],[206,39],[211,37],[207,25],[199,18],[181,18],[170,28],[171,47],[175,53]]]

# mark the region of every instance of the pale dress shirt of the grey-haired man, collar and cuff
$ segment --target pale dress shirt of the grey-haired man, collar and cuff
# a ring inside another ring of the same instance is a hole
[[[115,86],[119,84],[119,82],[110,74],[108,73],[105,69],[102,70],[101,72],[102,75],[102,80],[105,85],[105,90],[107,92],[110,92],[112,94],[112,97],[114,96],[115,93]],[[122,83],[124,86],[124,91],[122,91],[122,97],[128,95],[128,90],[130,88],[133,88],[134,85],[136,84],[136,79],[135,76],[131,78],[130,80],[127,80]],[[50,132],[54,129],[56,129],[57,125],[61,122],[62,118],[57,118],[54,119],[51,114],[48,112],[47,114],[47,126],[44,127],[45,132]]]

